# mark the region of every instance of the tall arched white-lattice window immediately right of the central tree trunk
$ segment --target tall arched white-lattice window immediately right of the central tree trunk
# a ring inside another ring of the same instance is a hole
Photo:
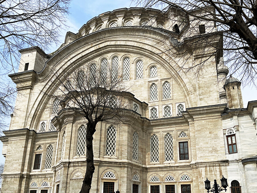
[[[107,129],[106,136],[106,151],[105,155],[107,156],[115,156],[116,152],[116,134],[117,131],[114,126],[109,126]]]

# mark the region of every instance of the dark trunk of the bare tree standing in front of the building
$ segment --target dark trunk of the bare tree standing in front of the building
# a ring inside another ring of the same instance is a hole
[[[94,154],[93,154],[93,134],[95,133],[96,124],[94,121],[87,123],[86,143],[87,143],[87,170],[83,185],[79,193],[89,193],[91,189],[91,183],[93,173],[95,172],[94,166]]]

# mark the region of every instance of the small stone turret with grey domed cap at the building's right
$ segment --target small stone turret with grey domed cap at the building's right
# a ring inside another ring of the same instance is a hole
[[[241,82],[237,78],[232,77],[232,75],[224,83],[228,108],[230,109],[244,108],[240,86]]]

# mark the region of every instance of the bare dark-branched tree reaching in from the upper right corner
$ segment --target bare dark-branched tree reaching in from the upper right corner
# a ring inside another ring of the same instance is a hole
[[[212,46],[215,53],[222,57],[228,65],[230,73],[240,76],[244,83],[256,86],[256,63],[257,63],[257,2],[252,0],[134,0],[138,5],[145,8],[158,7],[165,11],[171,11],[181,19],[173,30],[180,37],[188,40],[188,34],[192,38],[201,38],[206,46]],[[172,18],[169,18],[172,20]],[[178,17],[173,17],[178,19]],[[175,20],[173,20],[175,22]],[[208,22],[206,32],[204,26]],[[181,29],[190,25],[188,33],[181,33]],[[212,30],[214,29],[214,30]],[[196,33],[197,32],[197,33]],[[223,43],[213,43],[213,36],[223,37]],[[200,37],[199,37],[200,38]],[[187,46],[190,41],[182,41],[180,45]],[[222,46],[223,45],[223,46]],[[219,57],[217,59],[219,62]],[[201,69],[202,63],[187,66],[187,69]]]

